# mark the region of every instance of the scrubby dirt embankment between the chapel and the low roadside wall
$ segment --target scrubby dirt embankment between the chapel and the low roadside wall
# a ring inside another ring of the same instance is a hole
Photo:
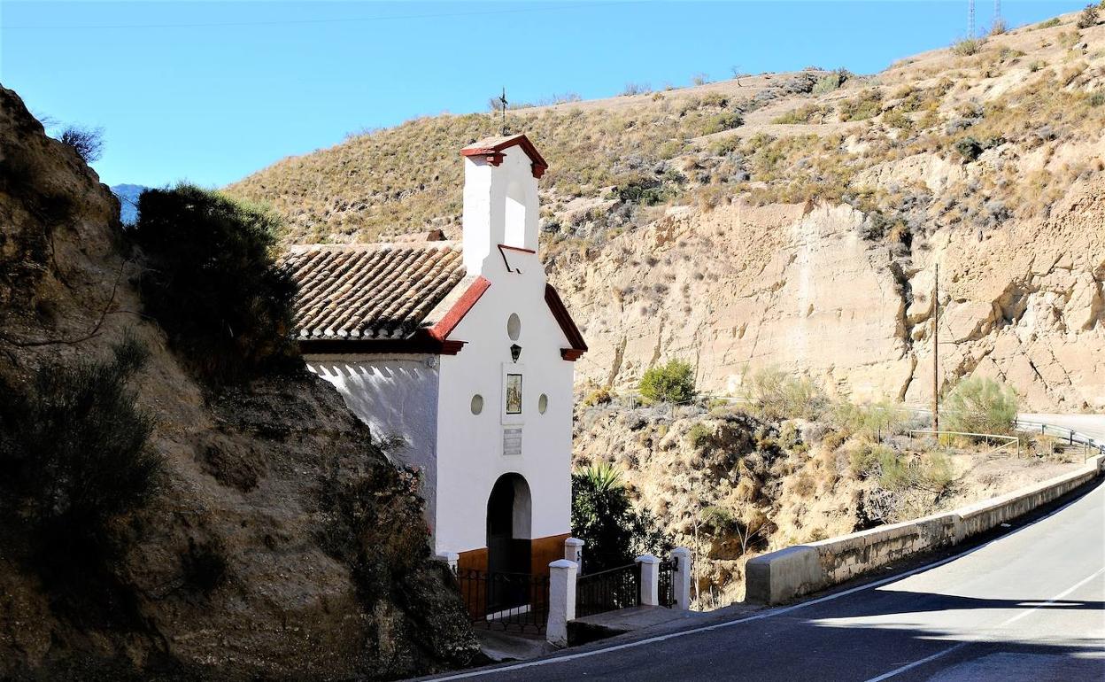
[[[1082,458],[1050,443],[1022,458],[974,445],[934,454],[907,436],[830,420],[608,406],[577,410],[573,461],[622,473],[634,504],[692,548],[697,604],[715,608],[744,597],[745,563],[758,554],[1000,495]]]

